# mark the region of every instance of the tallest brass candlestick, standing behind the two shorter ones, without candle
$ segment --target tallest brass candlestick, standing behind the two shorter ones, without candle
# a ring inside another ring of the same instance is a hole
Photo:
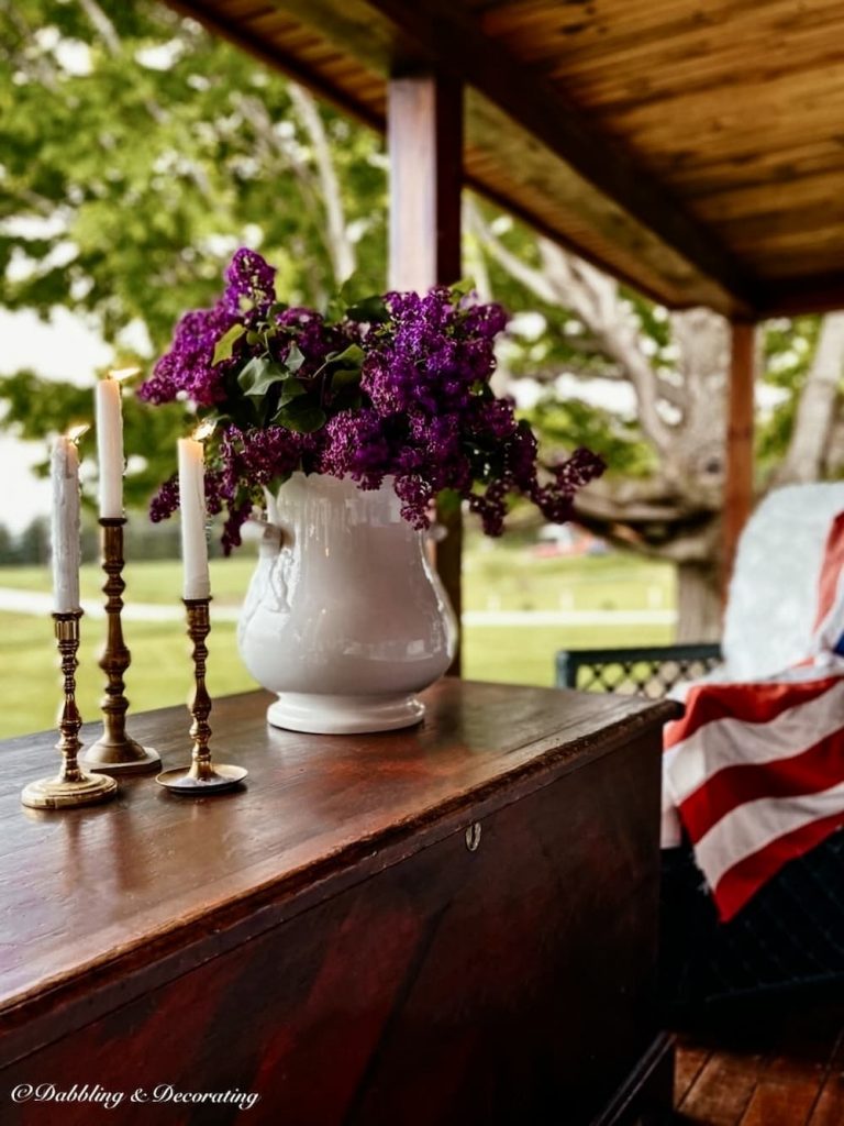
[[[142,747],[126,734],[126,709],[129,701],[124,696],[124,673],[132,662],[132,654],[123,640],[120,613],[123,610],[123,517],[101,517],[100,542],[102,545],[102,570],[106,582],[108,634],[100,658],[100,668],[106,673],[106,695],[101,700],[102,735],[82,756],[82,762],[104,774],[143,774],[161,766],[161,756],[152,747]]]

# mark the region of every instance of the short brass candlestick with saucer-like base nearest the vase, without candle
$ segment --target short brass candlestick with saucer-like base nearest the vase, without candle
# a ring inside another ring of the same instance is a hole
[[[194,643],[194,692],[188,703],[194,722],[190,725],[190,736],[194,740],[194,752],[190,767],[178,767],[165,770],[155,781],[165,786],[174,794],[219,794],[243,781],[246,771],[243,767],[215,766],[212,762],[208,742],[210,726],[208,715],[212,701],[205,687],[205,661],[208,650],[205,638],[210,633],[210,616],[208,604],[210,598],[183,599],[188,611],[188,637]]]

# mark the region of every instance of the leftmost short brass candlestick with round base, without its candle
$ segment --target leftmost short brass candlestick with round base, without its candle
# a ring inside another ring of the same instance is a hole
[[[24,788],[20,801],[33,810],[60,810],[73,805],[107,802],[117,794],[117,783],[106,775],[86,774],[78,762],[79,729],[82,716],[77,707],[77,651],[81,610],[54,614],[55,636],[64,677],[64,705],[59,717],[61,738],[56,750],[62,752],[62,769],[55,778],[39,778]]]

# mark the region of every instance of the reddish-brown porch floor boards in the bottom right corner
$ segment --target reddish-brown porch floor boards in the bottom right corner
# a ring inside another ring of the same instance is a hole
[[[844,1002],[681,1034],[677,1126],[844,1126]]]

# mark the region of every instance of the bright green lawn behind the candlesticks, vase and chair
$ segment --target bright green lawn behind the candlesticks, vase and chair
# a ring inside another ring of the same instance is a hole
[[[214,607],[236,607],[253,560],[239,556],[212,562]],[[671,568],[613,554],[593,558],[541,558],[528,546],[473,539],[465,560],[466,609],[506,610],[670,610],[674,606]],[[178,562],[128,564],[126,601],[179,606]],[[97,599],[101,574],[93,564],[82,569],[82,597]],[[45,568],[0,569],[0,587],[50,590]],[[102,622],[83,619],[79,704],[95,718],[102,688],[97,653]],[[39,731],[53,724],[59,676],[47,616],[0,613],[0,738]],[[181,622],[127,622],[132,650],[127,695],[132,707],[145,711],[186,699],[190,688],[188,642]],[[503,626],[473,624],[464,631],[465,674],[479,680],[551,685],[558,649],[587,645],[648,644],[668,641],[670,625]],[[253,681],[241,665],[235,626],[213,622],[208,683],[213,695],[241,691]]]

